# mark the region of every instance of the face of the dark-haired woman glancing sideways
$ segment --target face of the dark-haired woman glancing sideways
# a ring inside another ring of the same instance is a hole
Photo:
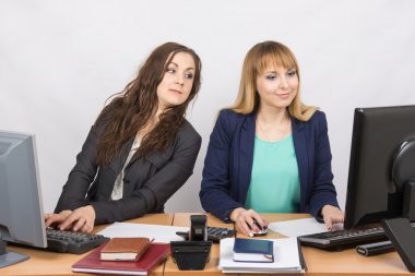
[[[194,71],[194,60],[190,53],[177,52],[174,56],[157,86],[159,110],[181,105],[188,99],[193,86]]]

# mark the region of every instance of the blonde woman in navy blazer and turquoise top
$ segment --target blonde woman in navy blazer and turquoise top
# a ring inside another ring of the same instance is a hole
[[[325,116],[305,106],[295,56],[283,44],[253,46],[234,106],[212,131],[203,168],[203,208],[252,236],[258,213],[310,213],[328,229],[343,221],[331,170]]]

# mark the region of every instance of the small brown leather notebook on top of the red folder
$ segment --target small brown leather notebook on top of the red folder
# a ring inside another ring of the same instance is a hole
[[[112,238],[102,249],[100,260],[139,261],[149,245],[149,238]]]

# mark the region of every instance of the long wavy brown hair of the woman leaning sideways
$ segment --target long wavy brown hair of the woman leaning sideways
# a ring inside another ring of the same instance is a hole
[[[157,86],[162,82],[167,65],[177,52],[192,56],[195,70],[193,84],[188,99],[178,106],[166,109],[159,115],[159,121],[141,141],[135,154],[145,156],[157,149],[167,148],[176,137],[186,115],[189,103],[200,89],[202,63],[190,48],[177,43],[158,46],[142,64],[135,80],[114,95],[110,103],[99,113],[96,124],[105,123],[104,133],[97,146],[97,164],[108,165],[119,155],[122,145],[135,137],[157,111]]]

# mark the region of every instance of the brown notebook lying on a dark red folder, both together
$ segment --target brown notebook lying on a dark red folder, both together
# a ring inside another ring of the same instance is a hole
[[[170,244],[147,238],[112,238],[72,265],[72,272],[149,275],[170,254]]]

